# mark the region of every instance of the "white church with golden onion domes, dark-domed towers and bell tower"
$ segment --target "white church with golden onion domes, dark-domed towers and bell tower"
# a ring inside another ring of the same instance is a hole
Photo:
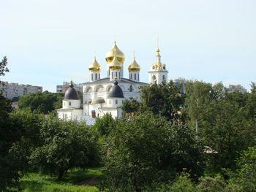
[[[160,84],[167,80],[167,69],[161,62],[161,55],[157,49],[157,59],[151,64],[149,75],[149,84]],[[57,110],[60,119],[73,120],[77,118],[102,118],[109,113],[113,118],[121,118],[124,114],[121,110],[125,99],[130,97],[140,101],[139,88],[148,85],[146,82],[140,82],[140,66],[132,60],[129,64],[129,77],[124,77],[124,53],[114,46],[105,55],[108,64],[107,77],[101,77],[101,66],[94,58],[89,65],[89,82],[83,83],[83,102],[78,99],[78,93],[75,91],[71,82],[62,101],[62,108]]]

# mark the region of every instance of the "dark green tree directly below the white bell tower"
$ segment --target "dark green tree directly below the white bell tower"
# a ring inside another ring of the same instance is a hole
[[[172,81],[160,85],[146,85],[140,88],[140,111],[150,111],[154,115],[161,115],[167,120],[177,118],[177,112],[184,105],[181,86]]]

